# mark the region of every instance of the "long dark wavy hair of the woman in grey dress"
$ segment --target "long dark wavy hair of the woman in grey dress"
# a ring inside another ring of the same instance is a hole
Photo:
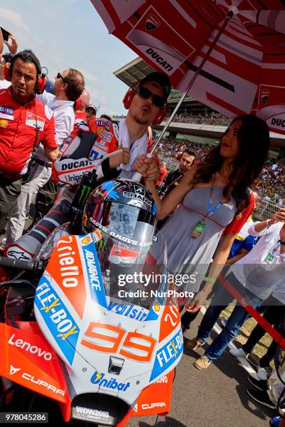
[[[224,188],[224,197],[229,200],[234,197],[238,213],[249,203],[249,188],[263,169],[269,149],[269,129],[264,120],[253,114],[244,114],[235,117],[235,121],[241,120],[242,126],[238,132],[239,151],[232,165],[233,170],[228,177],[228,183]],[[231,126],[230,125],[230,126]],[[209,182],[214,172],[221,169],[224,157],[220,154],[219,147],[210,150],[203,163],[200,163],[195,177],[191,183]]]

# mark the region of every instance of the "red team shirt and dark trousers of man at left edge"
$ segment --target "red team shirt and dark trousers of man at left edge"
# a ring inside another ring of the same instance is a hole
[[[0,229],[6,225],[21,191],[22,176],[27,172],[34,147],[57,148],[54,117],[49,107],[36,97],[21,105],[10,87],[0,89]],[[43,150],[44,151],[44,150]]]

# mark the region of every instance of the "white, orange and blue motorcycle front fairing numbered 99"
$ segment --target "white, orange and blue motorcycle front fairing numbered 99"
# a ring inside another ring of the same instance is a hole
[[[168,412],[172,371],[182,356],[183,340],[179,310],[168,294],[173,285],[167,280],[164,253],[159,238],[147,250],[143,245],[127,250],[100,230],[82,237],[66,234],[57,241],[38,283],[34,310],[52,360],[59,363],[60,373],[50,365],[43,372],[61,378],[64,396],[53,392],[50,397],[59,400],[65,421],[76,418],[73,400],[89,394],[118,398],[129,405],[128,417]],[[129,283],[126,287],[137,294],[122,300],[116,287],[119,274],[138,272],[136,266],[166,276],[159,283],[153,280],[154,297],[142,296],[141,283]],[[3,345],[8,340],[4,335]],[[3,376],[9,376],[7,369]],[[15,374],[10,379],[17,382]],[[36,391],[44,394],[43,387]]]

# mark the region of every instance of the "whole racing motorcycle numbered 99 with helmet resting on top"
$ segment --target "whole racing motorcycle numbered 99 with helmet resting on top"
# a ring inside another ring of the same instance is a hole
[[[1,410],[104,426],[169,412],[183,337],[149,203],[137,182],[103,183],[87,200],[86,234],[64,224],[36,259],[0,259],[26,271],[1,283]]]

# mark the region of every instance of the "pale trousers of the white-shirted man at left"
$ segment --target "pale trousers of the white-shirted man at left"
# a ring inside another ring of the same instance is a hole
[[[34,173],[31,181],[22,184],[21,193],[10,213],[10,220],[8,221],[3,242],[8,246],[15,240],[22,236],[24,230],[24,223],[26,221],[27,213],[31,203],[36,199],[38,190],[42,188],[45,183],[50,179],[52,168],[42,165],[37,165],[36,172]],[[4,240],[6,239],[6,241]]]

